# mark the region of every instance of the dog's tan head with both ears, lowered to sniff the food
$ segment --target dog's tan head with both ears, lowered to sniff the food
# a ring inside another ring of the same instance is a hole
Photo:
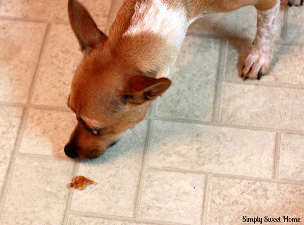
[[[69,0],[68,12],[84,58],[68,97],[78,123],[64,152],[73,158],[94,158],[140,122],[151,100],[162,95],[171,82],[145,76],[130,65],[77,1]]]

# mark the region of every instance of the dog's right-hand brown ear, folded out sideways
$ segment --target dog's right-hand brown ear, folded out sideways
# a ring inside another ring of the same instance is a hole
[[[127,82],[124,91],[124,102],[134,105],[143,104],[161,96],[171,85],[168,78],[153,78],[144,75],[132,76]]]

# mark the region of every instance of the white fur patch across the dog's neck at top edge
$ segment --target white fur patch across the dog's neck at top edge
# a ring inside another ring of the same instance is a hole
[[[162,0],[138,1],[130,26],[123,35],[158,34],[179,50],[191,22],[184,8],[170,9]]]

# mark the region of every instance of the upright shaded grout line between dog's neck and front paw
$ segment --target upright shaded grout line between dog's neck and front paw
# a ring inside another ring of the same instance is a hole
[[[212,119],[211,119],[211,121],[213,121],[213,122],[218,122],[218,118],[219,118],[222,80],[223,80],[223,76],[224,76],[224,72],[225,72],[227,48],[228,48],[227,40],[221,39],[219,54],[218,54],[217,76],[215,79],[213,113],[212,113]]]

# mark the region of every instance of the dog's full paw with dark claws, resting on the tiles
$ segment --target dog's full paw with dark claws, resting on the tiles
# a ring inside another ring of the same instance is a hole
[[[273,57],[272,48],[259,48],[253,45],[251,53],[247,56],[240,77],[246,79],[260,79],[267,74]]]

